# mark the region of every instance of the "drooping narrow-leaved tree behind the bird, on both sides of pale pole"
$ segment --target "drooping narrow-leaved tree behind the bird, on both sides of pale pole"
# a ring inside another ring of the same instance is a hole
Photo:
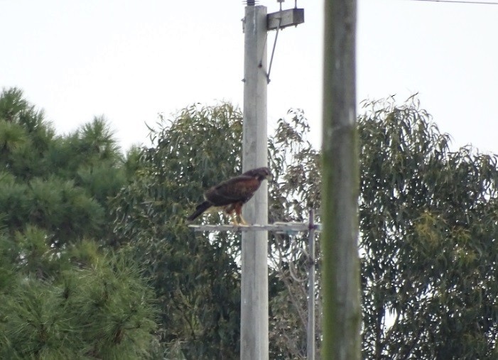
[[[271,219],[307,217],[307,207],[318,195],[318,152],[304,140],[308,131],[301,111],[279,121],[269,139],[274,182],[270,184]],[[304,132],[304,133],[303,133]],[[185,224],[202,192],[242,170],[242,114],[230,104],[181,110],[172,120],[162,118],[152,129],[153,146],[144,148],[138,176],[114,204],[119,237],[134,239],[139,261],[150,271],[161,299],[163,343],[179,349],[187,359],[236,359],[239,356],[240,267],[239,234],[195,235]],[[299,163],[296,163],[299,161]],[[298,186],[296,186],[298,185]],[[205,215],[207,222],[226,222],[220,214]],[[278,240],[288,251],[289,236]],[[277,243],[274,243],[277,244]],[[288,268],[283,258],[275,266]],[[293,282],[284,286],[280,273],[270,272],[271,297],[286,298]],[[305,301],[301,295],[296,301]],[[301,330],[296,305],[283,319],[283,306],[272,302],[272,358],[303,353],[303,337],[287,350],[282,344],[290,332]],[[284,324],[284,322],[286,324]],[[294,349],[296,348],[296,349]],[[286,355],[287,354],[287,355]]]

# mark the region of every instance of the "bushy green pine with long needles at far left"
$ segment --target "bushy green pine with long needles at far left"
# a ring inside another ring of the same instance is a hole
[[[124,164],[103,119],[56,136],[20,90],[1,92],[1,359],[153,352],[153,293],[128,248],[101,246]]]

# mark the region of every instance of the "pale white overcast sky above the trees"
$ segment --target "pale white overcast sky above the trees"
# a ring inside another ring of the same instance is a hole
[[[489,0],[491,1],[491,0]],[[275,0],[259,1],[269,12]],[[287,0],[283,9],[293,7]],[[418,92],[455,146],[498,153],[498,5],[358,0],[357,100]],[[319,144],[323,0],[281,31],[269,123],[305,111]],[[124,148],[193,102],[242,107],[241,0],[0,0],[0,87],[19,87],[59,133],[104,115]],[[274,32],[269,33],[269,54]]]

